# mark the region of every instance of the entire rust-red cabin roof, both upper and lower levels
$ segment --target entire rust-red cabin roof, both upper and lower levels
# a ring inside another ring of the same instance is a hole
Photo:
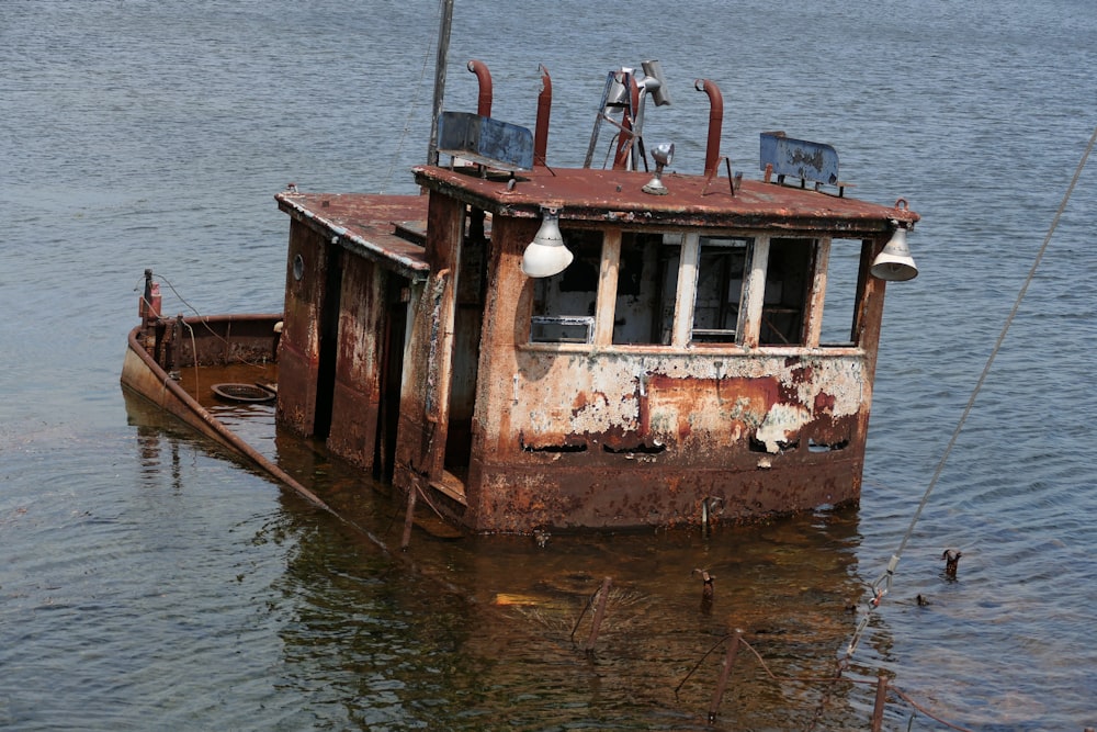
[[[535,168],[510,177],[422,166],[416,181],[493,215],[540,218],[553,207],[562,221],[629,222],[776,230],[877,234],[891,221],[913,224],[918,214],[810,188],[744,180],[732,193],[727,178],[665,173],[666,195],[644,193],[652,173],[589,168]],[[314,230],[404,277],[420,280],[425,259],[426,195],[296,193],[274,196],[279,207]]]

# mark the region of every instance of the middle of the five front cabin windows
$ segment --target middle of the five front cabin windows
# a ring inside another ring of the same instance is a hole
[[[735,342],[749,244],[750,240],[745,238],[701,237],[693,304],[693,342]]]

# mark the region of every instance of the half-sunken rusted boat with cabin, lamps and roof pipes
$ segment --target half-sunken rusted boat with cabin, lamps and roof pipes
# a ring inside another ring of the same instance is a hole
[[[284,314],[218,322],[211,352],[276,360],[280,428],[472,532],[857,502],[885,282],[917,273],[918,215],[846,195],[834,148],[783,133],[760,135],[756,179],[733,171],[711,80],[703,169],[672,168],[643,135],[669,101],[654,61],[607,75],[585,164],[556,167],[547,71],[531,131],[493,119],[470,70],[479,108],[438,115],[422,195],[275,196]],[[173,413],[193,410],[161,374],[203,350],[183,327],[147,313],[123,376]]]

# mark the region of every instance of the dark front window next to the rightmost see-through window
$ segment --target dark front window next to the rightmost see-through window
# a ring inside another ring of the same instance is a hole
[[[814,239],[770,239],[759,345],[803,345],[814,250]]]

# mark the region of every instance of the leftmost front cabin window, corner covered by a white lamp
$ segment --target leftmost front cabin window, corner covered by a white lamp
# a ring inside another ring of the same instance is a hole
[[[595,334],[602,233],[561,229],[575,259],[559,274],[533,282],[530,340],[538,344],[589,344]]]

